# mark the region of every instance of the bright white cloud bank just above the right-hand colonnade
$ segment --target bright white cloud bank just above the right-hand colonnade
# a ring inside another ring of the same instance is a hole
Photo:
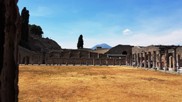
[[[151,34],[135,34],[125,40],[132,45],[178,45],[182,44],[182,30],[175,30],[166,34],[151,35]]]

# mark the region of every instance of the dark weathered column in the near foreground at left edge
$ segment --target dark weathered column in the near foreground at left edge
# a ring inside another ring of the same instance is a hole
[[[18,0],[0,0],[1,102],[18,101]],[[3,53],[4,52],[4,53]]]

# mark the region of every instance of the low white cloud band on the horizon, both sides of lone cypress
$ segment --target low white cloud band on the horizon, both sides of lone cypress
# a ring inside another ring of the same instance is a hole
[[[97,37],[95,37],[97,36]],[[63,37],[63,36],[61,36]],[[118,44],[149,46],[149,45],[182,45],[182,30],[174,30],[166,34],[151,35],[148,33],[135,33],[130,36],[118,35],[94,35],[84,36],[84,47],[93,47],[99,43],[107,43],[110,46]],[[66,38],[65,38],[66,39]],[[78,36],[70,37],[70,40],[56,39],[63,48],[76,48]]]

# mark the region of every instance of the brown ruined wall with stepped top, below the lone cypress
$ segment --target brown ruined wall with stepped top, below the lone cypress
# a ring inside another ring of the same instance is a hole
[[[46,53],[45,64],[124,65],[125,59],[107,58],[105,54],[84,50],[60,50]]]

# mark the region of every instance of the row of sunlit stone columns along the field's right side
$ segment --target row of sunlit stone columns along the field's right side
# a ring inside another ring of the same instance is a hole
[[[164,60],[162,61],[162,56]],[[177,70],[176,49],[172,51],[172,55],[168,53],[168,49],[164,51],[141,52],[132,55],[132,65],[144,68],[157,68],[159,70],[168,70],[169,67]]]

